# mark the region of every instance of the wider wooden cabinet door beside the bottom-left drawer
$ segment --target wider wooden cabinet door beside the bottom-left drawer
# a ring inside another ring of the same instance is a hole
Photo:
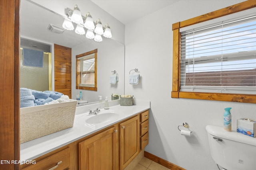
[[[112,127],[78,144],[80,170],[118,169],[118,131]]]

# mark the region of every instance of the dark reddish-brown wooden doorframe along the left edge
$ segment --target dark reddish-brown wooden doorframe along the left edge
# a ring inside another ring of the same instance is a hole
[[[20,0],[1,0],[0,11],[0,169],[19,170]]]

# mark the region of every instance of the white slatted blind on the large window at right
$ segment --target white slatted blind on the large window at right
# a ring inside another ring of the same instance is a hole
[[[181,32],[180,91],[256,94],[256,14]]]

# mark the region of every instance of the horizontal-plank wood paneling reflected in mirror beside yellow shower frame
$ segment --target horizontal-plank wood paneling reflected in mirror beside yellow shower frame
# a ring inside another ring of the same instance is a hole
[[[54,44],[54,91],[71,99],[71,48]]]

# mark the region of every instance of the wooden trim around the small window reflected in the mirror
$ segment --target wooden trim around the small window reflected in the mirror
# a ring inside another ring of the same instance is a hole
[[[88,51],[86,53],[82,53],[80,55],[76,55],[76,61],[79,57],[83,57],[85,55],[90,55],[90,54],[93,54],[95,53],[95,76],[94,76],[94,84],[95,84],[95,87],[82,87],[82,86],[79,86],[79,89],[81,90],[91,90],[91,91],[97,91],[97,52],[98,52],[98,49],[94,49],[92,51]],[[78,82],[79,80],[79,72],[77,70],[77,66],[76,66],[76,89],[78,89]]]

